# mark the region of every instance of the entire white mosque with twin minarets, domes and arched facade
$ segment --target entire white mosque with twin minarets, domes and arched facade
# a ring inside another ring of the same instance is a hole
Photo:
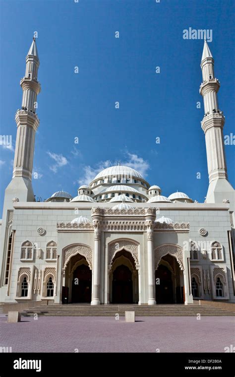
[[[17,110],[13,177],[0,220],[0,303],[235,302],[235,190],[228,181],[220,82],[205,40],[201,69],[209,186],[204,203],[165,196],[128,166],[35,201],[32,169],[41,87],[35,39]]]

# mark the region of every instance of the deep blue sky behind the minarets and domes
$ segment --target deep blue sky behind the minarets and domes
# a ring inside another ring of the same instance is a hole
[[[199,94],[203,40],[185,40],[183,30],[212,29],[208,45],[221,83],[219,107],[227,135],[234,131],[234,16],[232,0],[226,6],[221,0],[1,0],[0,134],[12,135],[13,147],[14,115],[22,100],[19,81],[38,32],[42,91],[34,155],[36,197],[44,200],[62,188],[75,196],[79,184],[119,161],[159,185],[163,195],[178,190],[204,201],[208,172]],[[234,148],[225,148],[233,186]],[[13,148],[0,146],[1,207],[13,157]]]

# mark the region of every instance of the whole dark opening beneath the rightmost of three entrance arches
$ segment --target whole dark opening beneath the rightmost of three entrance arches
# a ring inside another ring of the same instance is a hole
[[[176,257],[162,256],[155,270],[156,303],[182,304],[184,302],[183,273]]]

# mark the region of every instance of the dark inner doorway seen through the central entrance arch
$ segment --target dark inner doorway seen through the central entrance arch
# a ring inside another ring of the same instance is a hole
[[[131,270],[121,264],[113,272],[113,303],[133,303],[133,285]]]

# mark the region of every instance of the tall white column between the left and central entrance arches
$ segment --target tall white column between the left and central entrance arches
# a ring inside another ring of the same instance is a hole
[[[100,305],[100,221],[93,220],[94,226],[94,260],[93,260],[93,299],[91,305]]]

